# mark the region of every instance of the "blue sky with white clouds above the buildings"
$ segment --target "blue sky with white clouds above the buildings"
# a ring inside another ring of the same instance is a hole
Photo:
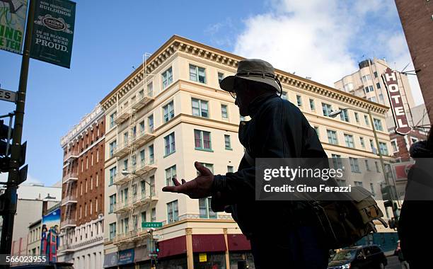
[[[173,34],[267,59],[330,86],[355,71],[363,55],[403,68],[410,55],[394,2],[366,1],[76,1],[71,69],[30,60],[23,133],[29,179],[61,180],[60,137],[142,62],[144,52]],[[1,88],[17,90],[20,67],[21,56],[0,50]],[[0,114],[13,109],[0,103]]]

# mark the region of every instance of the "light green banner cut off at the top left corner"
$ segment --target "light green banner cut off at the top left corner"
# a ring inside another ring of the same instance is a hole
[[[27,0],[0,0],[0,50],[21,54]]]

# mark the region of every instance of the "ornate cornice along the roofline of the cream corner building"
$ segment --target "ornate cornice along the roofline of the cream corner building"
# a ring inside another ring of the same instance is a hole
[[[146,67],[147,72],[151,73],[154,71],[176,51],[183,52],[188,55],[194,55],[195,57],[200,57],[202,59],[207,59],[209,61],[229,67],[230,69],[236,69],[238,62],[242,59],[245,59],[238,55],[233,55],[229,52],[224,52],[214,47],[209,47],[199,42],[182,38],[178,35],[173,35],[173,37],[170,38],[164,45],[162,45],[159,50],[149,57]],[[374,113],[385,114],[388,110],[388,107],[385,105],[367,101],[357,96],[352,96],[350,93],[337,90],[330,86],[325,86],[316,81],[304,79],[286,71],[275,69],[275,73],[277,74],[277,79],[281,81],[283,86],[293,86],[300,88],[304,91],[310,91],[312,93],[331,98],[335,101],[341,101],[349,105],[354,105],[357,108],[371,110]],[[122,98],[122,96],[124,96],[131,88],[133,88],[139,83],[139,81],[143,79],[143,75],[144,72],[142,64],[139,68],[132,72],[127,79],[122,81],[122,83],[117,86],[108,96],[106,96],[103,101],[101,101],[103,109],[107,110],[111,105],[115,104],[116,94],[118,95],[118,98]]]

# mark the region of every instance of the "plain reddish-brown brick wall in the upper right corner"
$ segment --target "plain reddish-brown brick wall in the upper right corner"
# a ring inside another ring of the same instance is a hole
[[[396,0],[422,96],[433,122],[433,1]]]

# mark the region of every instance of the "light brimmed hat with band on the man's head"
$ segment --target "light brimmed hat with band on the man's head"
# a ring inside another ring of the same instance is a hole
[[[236,79],[262,82],[274,87],[277,92],[282,92],[281,84],[279,84],[275,76],[274,67],[272,67],[272,64],[262,59],[244,59],[238,62],[236,75],[227,76],[219,83],[219,86],[224,91],[233,92]]]

